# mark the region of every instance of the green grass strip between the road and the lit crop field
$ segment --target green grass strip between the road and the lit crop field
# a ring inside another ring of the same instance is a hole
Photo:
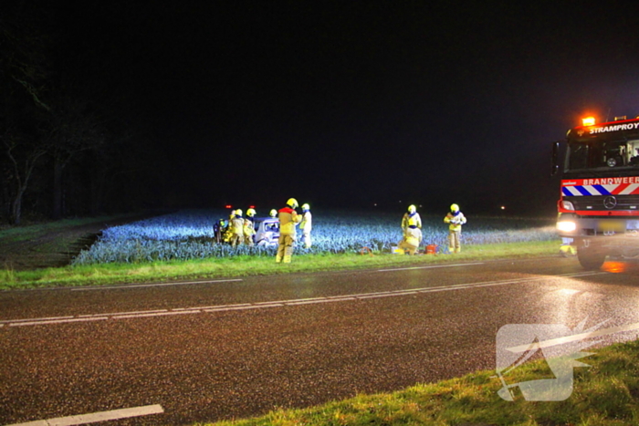
[[[559,241],[468,245],[463,253],[456,255],[294,255],[293,262],[288,265],[276,264],[273,257],[236,256],[145,264],[66,266],[32,271],[5,268],[0,269],[0,289],[100,286],[549,256],[558,253],[559,245]]]

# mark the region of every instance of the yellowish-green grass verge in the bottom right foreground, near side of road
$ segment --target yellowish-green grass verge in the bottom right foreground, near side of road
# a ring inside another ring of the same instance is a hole
[[[216,426],[257,425],[571,425],[639,424],[639,341],[592,350],[574,369],[571,396],[562,401],[514,401],[498,396],[495,371],[420,384],[406,390],[358,395],[349,400],[299,410],[274,410],[266,416],[221,421]],[[509,383],[539,377],[543,360],[525,363]],[[203,424],[203,423],[198,423]]]

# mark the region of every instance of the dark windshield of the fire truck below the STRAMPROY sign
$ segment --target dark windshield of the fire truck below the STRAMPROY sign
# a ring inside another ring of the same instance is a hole
[[[639,140],[569,141],[565,171],[639,169]]]

